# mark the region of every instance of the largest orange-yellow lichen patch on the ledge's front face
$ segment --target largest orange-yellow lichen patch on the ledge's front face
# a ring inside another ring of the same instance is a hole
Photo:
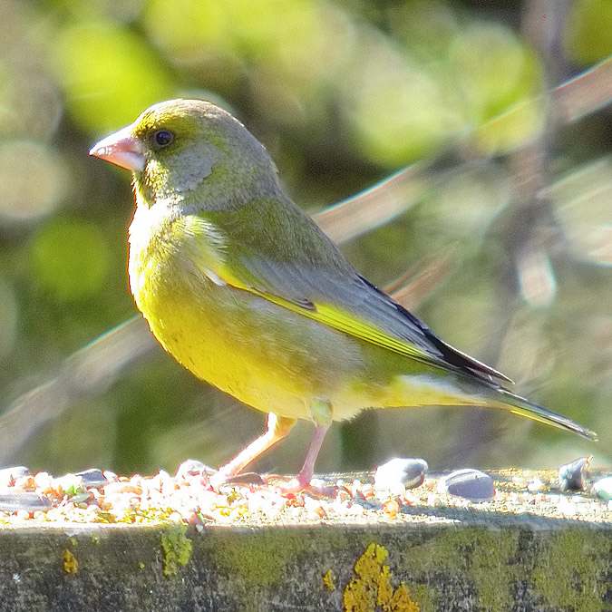
[[[346,585],[343,594],[346,612],[374,612],[376,607],[383,612],[420,611],[403,583],[393,590],[393,574],[384,563],[388,556],[384,546],[371,542],[355,561],[355,578]]]

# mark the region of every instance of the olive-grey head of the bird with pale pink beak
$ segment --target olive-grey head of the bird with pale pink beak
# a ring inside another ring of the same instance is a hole
[[[199,199],[219,208],[277,189],[274,162],[228,112],[201,100],[151,106],[90,155],[131,170],[139,203]]]

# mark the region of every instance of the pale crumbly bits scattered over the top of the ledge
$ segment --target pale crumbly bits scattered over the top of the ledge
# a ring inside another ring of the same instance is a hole
[[[608,476],[591,470],[585,491],[560,491],[558,471],[518,469],[487,471],[494,491],[489,500],[474,501],[449,494],[440,486],[448,474],[428,474],[423,484],[406,489],[395,481],[391,491],[374,487],[373,473],[325,475],[335,495],[284,493],[282,477],[233,481],[214,490],[207,466],[189,461],[175,476],[117,476],[90,470],[54,477],[6,469],[11,477],[0,486],[0,529],[83,524],[195,525],[458,522],[465,512],[482,520],[529,514],[530,519],[612,522],[612,501],[600,499],[593,482]],[[4,471],[4,470],[3,470]],[[15,477],[16,476],[16,477]]]

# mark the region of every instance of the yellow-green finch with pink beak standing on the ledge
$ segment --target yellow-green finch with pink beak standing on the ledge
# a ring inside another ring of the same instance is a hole
[[[369,408],[497,408],[594,440],[510,392],[353,267],[285,193],[266,148],[203,100],[159,102],[90,154],[132,173],[129,281],[164,349],[199,379],[267,413],[267,429],[219,468],[237,476],[314,423],[310,487],[332,423]]]

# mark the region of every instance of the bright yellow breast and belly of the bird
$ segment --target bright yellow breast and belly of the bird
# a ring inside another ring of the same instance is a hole
[[[378,385],[363,384],[380,349],[224,283],[211,272],[223,255],[219,236],[200,226],[148,210],[131,225],[131,291],[170,355],[242,402],[289,418],[310,418],[320,398],[335,419],[380,405]]]

